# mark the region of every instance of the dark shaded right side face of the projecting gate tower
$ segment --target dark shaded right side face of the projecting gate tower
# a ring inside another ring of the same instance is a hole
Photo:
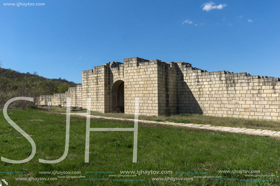
[[[158,114],[177,114],[177,68],[175,62],[158,64]]]

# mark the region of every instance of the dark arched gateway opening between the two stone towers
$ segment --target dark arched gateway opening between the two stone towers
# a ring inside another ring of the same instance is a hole
[[[112,112],[125,112],[124,82],[116,81],[112,86]]]

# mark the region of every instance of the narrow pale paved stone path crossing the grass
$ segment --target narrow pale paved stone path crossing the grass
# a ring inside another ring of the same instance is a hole
[[[66,114],[66,113],[64,113]],[[86,113],[71,113],[71,115],[78,115],[86,117]],[[120,121],[132,121],[134,119],[123,119],[123,118],[109,118],[103,116],[90,116],[91,118],[103,118],[110,120],[120,120]],[[271,131],[271,130],[261,130],[261,129],[252,129],[252,128],[234,128],[234,127],[221,127],[221,126],[213,126],[213,125],[201,125],[201,124],[193,124],[193,123],[173,123],[173,122],[159,122],[159,121],[147,121],[147,120],[138,120],[138,122],[142,123],[151,123],[151,124],[163,124],[163,125],[174,125],[174,126],[182,126],[182,127],[191,127],[191,128],[200,128],[207,129],[213,131],[224,131],[224,132],[233,132],[233,133],[242,133],[242,134],[250,134],[250,135],[267,135],[280,137],[280,131]]]

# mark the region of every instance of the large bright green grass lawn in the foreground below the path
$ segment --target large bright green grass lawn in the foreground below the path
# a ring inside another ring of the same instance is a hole
[[[52,107],[54,108],[54,107]],[[22,164],[1,161],[0,171],[25,171],[1,174],[9,185],[280,185],[280,140],[264,136],[250,136],[226,132],[196,130],[192,128],[140,123],[138,127],[137,163],[132,163],[133,132],[90,132],[89,163],[85,163],[86,119],[71,117],[70,141],[67,157],[55,164],[39,163],[38,159],[56,160],[64,153],[66,116],[42,110],[8,110],[9,117],[36,144],[32,160]],[[163,116],[162,116],[163,117]],[[160,120],[158,117],[157,120]],[[187,118],[191,118],[188,121]],[[170,121],[195,123],[199,116],[171,116]],[[139,118],[144,119],[144,118]],[[146,118],[145,118],[146,119]],[[224,120],[223,118],[219,118]],[[232,119],[232,118],[231,118]],[[162,120],[168,120],[166,117]],[[214,125],[208,121],[207,124]],[[218,119],[215,119],[218,122]],[[224,120],[226,122],[226,120]],[[223,122],[220,122],[223,123]],[[219,124],[220,124],[219,123]],[[278,123],[277,123],[278,124]],[[215,125],[218,125],[215,123]],[[231,125],[231,124],[230,124]],[[238,124],[239,125],[239,124]],[[240,124],[241,125],[241,124]],[[268,125],[268,124],[267,124]],[[133,123],[91,119],[91,128],[133,128]],[[274,125],[273,125],[274,126]],[[276,125],[275,127],[279,125]],[[249,126],[246,126],[249,128]],[[253,127],[250,127],[253,128]],[[261,127],[258,127],[261,128]],[[1,156],[23,160],[31,154],[31,144],[5,121],[0,112]],[[141,174],[136,177],[111,177],[123,170],[167,170],[169,174]],[[246,176],[244,173],[219,173],[219,170],[259,170],[257,174],[274,177]],[[80,171],[81,174],[40,174],[39,171]],[[86,171],[112,171],[114,173],[86,173]],[[176,172],[207,172],[207,174],[176,174]],[[278,172],[278,173],[277,173]],[[57,176],[85,176],[107,180],[85,181],[82,178]],[[238,181],[219,181],[194,176],[220,176]],[[56,181],[16,181],[15,178],[57,178]],[[192,181],[153,181],[152,178],[193,178]],[[145,179],[145,181],[114,181],[115,179]],[[240,181],[240,179],[272,179],[273,181]]]

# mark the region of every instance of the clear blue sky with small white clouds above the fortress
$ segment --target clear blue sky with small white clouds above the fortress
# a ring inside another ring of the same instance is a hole
[[[27,1],[0,4],[3,68],[82,82],[140,57],[280,77],[280,1]]]

